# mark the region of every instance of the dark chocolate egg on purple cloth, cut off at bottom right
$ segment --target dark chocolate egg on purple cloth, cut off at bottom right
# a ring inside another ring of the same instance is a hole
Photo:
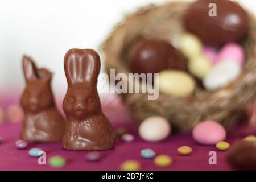
[[[256,142],[239,142],[229,149],[228,162],[237,170],[256,171]]]

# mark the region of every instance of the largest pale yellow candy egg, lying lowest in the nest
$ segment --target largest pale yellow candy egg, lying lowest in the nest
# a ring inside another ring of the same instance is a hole
[[[160,92],[177,97],[185,97],[192,94],[196,87],[195,80],[183,71],[162,71],[159,73],[158,81]]]

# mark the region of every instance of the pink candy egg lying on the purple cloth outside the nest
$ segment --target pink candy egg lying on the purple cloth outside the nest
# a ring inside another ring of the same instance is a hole
[[[215,145],[225,140],[226,131],[216,121],[203,121],[198,123],[192,131],[193,139],[200,144]]]

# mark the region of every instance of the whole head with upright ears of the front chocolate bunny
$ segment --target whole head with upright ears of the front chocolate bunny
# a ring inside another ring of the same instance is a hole
[[[92,49],[71,49],[64,59],[68,92],[63,101],[67,116],[83,119],[101,110],[97,92],[100,57]]]

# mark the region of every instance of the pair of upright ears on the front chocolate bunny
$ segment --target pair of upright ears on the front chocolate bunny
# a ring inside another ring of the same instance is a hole
[[[101,68],[100,56],[93,49],[71,49],[65,55],[64,68],[68,85],[82,82],[95,86]]]

